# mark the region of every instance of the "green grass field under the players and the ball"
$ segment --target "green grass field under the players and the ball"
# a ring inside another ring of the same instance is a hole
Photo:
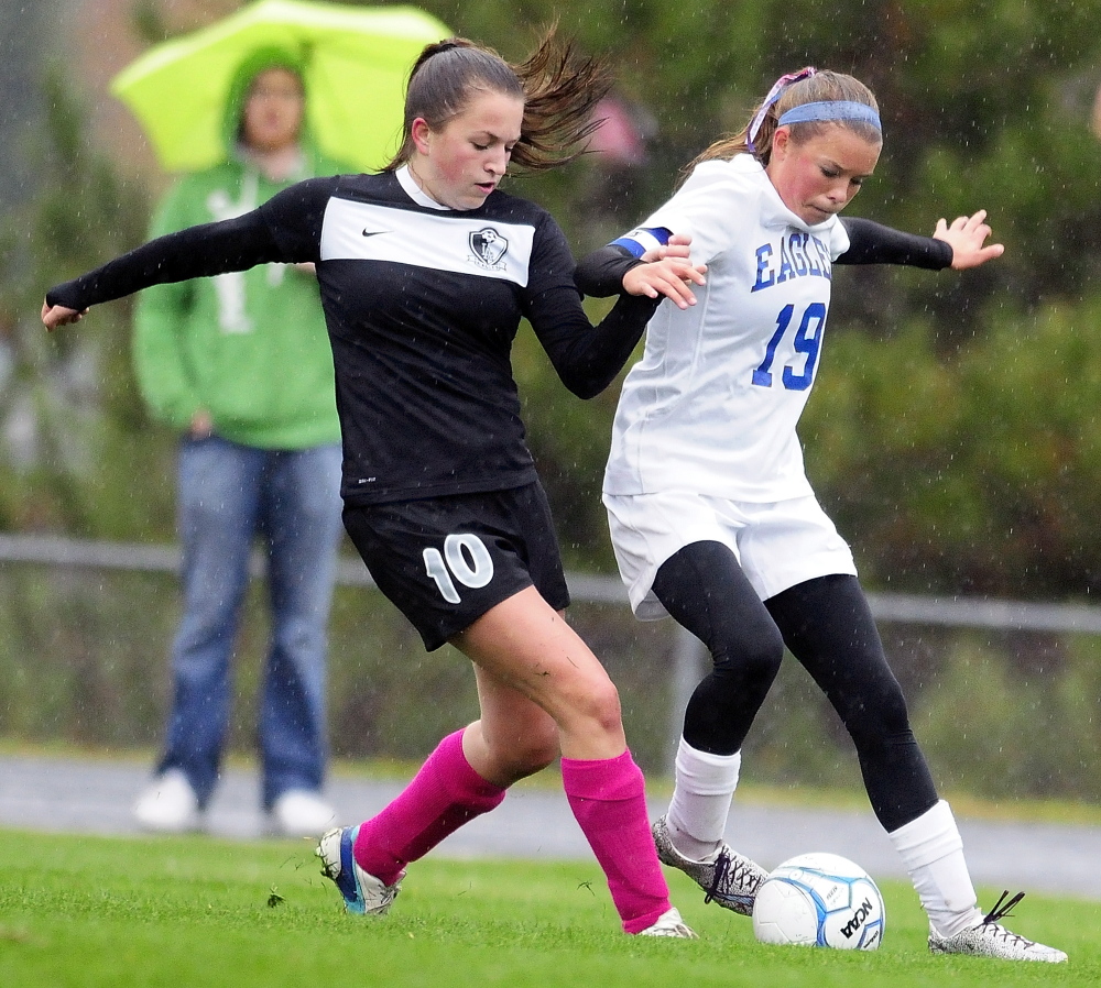
[[[1101,984],[1101,902],[1029,894],[1010,921],[1066,949],[1069,964],[944,958],[925,946],[911,888],[883,882],[884,944],[855,954],[756,944],[748,920],[705,907],[675,872],[674,901],[701,938],[625,936],[599,869],[585,861],[430,856],[412,869],[389,916],[364,921],[342,912],[312,850],[296,842],[0,831],[0,986]],[[992,902],[1001,890],[983,891]]]

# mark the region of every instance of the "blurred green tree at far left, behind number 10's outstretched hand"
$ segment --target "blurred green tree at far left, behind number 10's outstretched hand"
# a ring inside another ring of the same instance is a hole
[[[48,285],[141,242],[146,197],[91,150],[84,108],[61,74],[47,74],[43,94],[39,190],[10,217],[0,253],[11,362],[0,398],[0,525],[166,537],[159,450],[130,374],[129,306],[103,306],[94,323],[54,336],[37,319]]]

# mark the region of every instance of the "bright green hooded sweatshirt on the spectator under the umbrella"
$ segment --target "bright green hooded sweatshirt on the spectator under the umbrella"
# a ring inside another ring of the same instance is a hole
[[[285,183],[241,158],[237,132],[248,85],[273,66],[301,72],[293,58],[273,52],[242,65],[226,112],[227,161],[175,185],[151,238],[240,216],[293,182],[341,171],[308,138],[301,141],[303,174]],[[307,118],[308,99],[307,91]],[[205,408],[216,435],[243,446],[295,450],[340,440],[317,281],[293,265],[146,288],[138,300],[133,359],[150,409],[182,431]]]

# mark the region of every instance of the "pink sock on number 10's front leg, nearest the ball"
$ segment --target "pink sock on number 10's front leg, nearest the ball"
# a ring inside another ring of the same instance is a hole
[[[646,783],[630,751],[599,761],[562,759],[574,816],[608,877],[628,933],[652,926],[669,909],[669,888],[646,815]]]

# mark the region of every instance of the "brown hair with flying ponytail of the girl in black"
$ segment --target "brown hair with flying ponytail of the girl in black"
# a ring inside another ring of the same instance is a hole
[[[402,146],[383,171],[394,172],[413,157],[414,120],[421,117],[438,130],[462,112],[477,90],[486,89],[524,101],[513,165],[543,172],[565,164],[585,152],[602,122],[592,111],[610,88],[603,63],[577,56],[570,42],[556,40],[554,28],[519,64],[465,37],[427,45],[410,70]]]

